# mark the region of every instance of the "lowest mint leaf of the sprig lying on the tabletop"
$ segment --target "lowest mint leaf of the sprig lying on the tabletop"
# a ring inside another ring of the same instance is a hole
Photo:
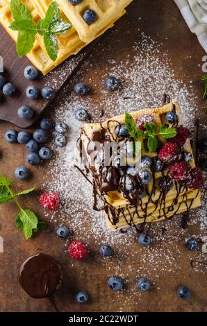
[[[21,228],[26,239],[31,238],[33,230],[38,228],[38,217],[29,209],[21,209],[15,221],[18,228]]]

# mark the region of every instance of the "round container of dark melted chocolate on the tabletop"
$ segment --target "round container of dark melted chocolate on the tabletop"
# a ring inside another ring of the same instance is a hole
[[[38,254],[29,257],[19,269],[19,283],[32,298],[51,296],[60,286],[63,273],[56,259]]]

